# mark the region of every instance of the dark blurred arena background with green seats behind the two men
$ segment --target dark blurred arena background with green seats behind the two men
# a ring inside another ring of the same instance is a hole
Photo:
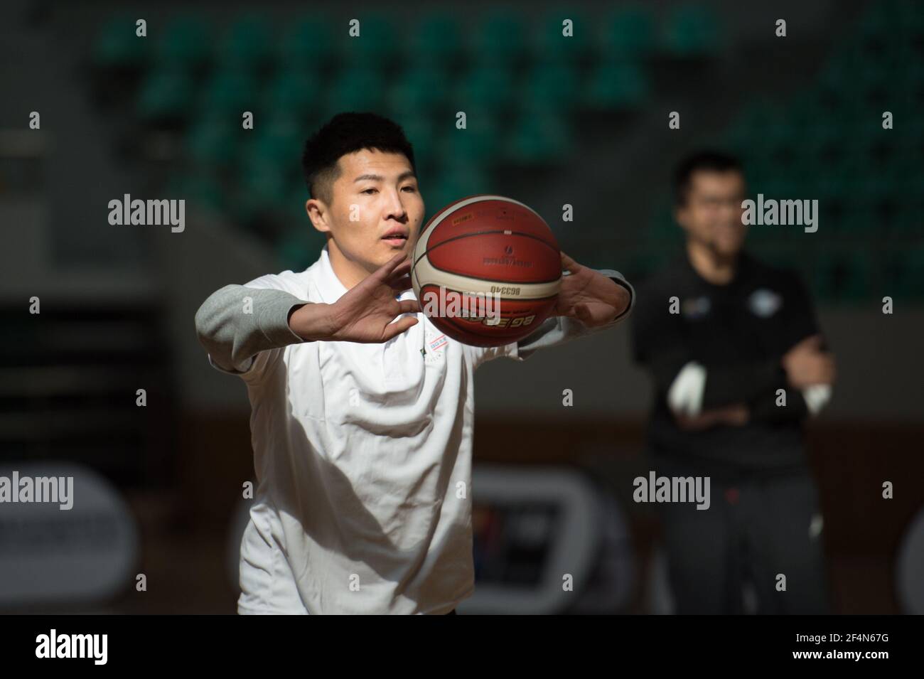
[[[84,498],[0,503],[0,611],[236,612],[249,402],[193,317],[222,285],[317,260],[304,141],[371,111],[413,144],[427,217],[515,198],[637,289],[683,251],[672,173],[690,152],[736,154],[748,197],[818,200],[816,231],[754,225],[746,248],[801,274],[837,358],[807,424],[833,612],[924,612],[924,4],[6,0],[0,16],[0,467],[72,476]],[[185,200],[185,224],[111,224],[126,194]],[[675,612],[659,515],[633,499],[657,470],[633,321],[479,370],[460,614]]]

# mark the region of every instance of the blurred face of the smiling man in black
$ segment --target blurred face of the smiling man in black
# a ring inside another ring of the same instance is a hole
[[[744,244],[747,227],[741,221],[745,181],[736,170],[697,170],[690,177],[687,202],[675,217],[687,236],[721,257],[734,257]]]

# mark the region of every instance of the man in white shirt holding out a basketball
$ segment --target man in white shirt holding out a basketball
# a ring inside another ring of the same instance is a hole
[[[553,318],[517,343],[461,344],[409,289],[424,202],[401,128],[336,115],[303,168],[320,259],[225,285],[196,313],[213,367],[244,380],[252,406],[259,485],[237,610],[454,612],[474,588],[474,370],[621,321],[632,288],[563,253]]]

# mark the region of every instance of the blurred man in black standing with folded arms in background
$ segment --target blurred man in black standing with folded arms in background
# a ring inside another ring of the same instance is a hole
[[[676,610],[742,612],[749,581],[758,612],[828,612],[803,422],[830,398],[833,355],[796,273],[742,250],[736,158],[687,158],[675,191],[685,253],[639,287],[633,341],[655,385],[652,469],[711,479],[705,511],[658,504]]]

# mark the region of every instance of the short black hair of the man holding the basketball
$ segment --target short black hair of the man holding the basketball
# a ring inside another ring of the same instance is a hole
[[[414,148],[401,126],[373,113],[339,113],[305,142],[301,167],[310,197],[330,204],[334,199],[334,181],[340,176],[337,161],[362,149],[404,153],[411,169],[417,172]]]

